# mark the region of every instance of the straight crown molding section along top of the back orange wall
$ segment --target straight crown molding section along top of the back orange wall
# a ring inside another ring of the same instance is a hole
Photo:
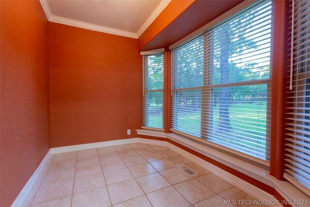
[[[120,36],[124,36],[124,37],[130,37],[130,38],[138,39],[138,36],[135,32],[127,32],[127,31],[123,31],[123,30],[117,30],[117,29],[104,27],[104,26],[100,26],[100,25],[96,25],[96,24],[90,24],[90,23],[86,23],[86,22],[82,22],[82,21],[78,21],[78,20],[68,19],[68,18],[64,18],[61,16],[52,15],[49,18],[49,21],[59,23],[59,24],[65,24],[65,25],[69,25],[69,26],[73,26],[73,27],[79,27],[79,28],[83,28],[83,29],[87,29],[87,30],[93,30],[93,31],[97,31],[97,32],[105,32],[105,33],[109,33],[109,34],[115,34],[115,35],[120,35]]]

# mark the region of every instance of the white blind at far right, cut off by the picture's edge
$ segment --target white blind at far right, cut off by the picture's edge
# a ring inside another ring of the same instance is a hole
[[[310,196],[310,1],[293,0],[292,14],[284,177]]]

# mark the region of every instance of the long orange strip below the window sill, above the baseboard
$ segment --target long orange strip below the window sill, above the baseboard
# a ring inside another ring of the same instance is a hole
[[[222,163],[220,163],[220,162],[218,162],[218,161],[216,161],[214,159],[208,158],[208,157],[206,157],[206,156],[204,156],[204,155],[202,155],[202,154],[200,154],[200,153],[198,153],[198,152],[196,152],[196,151],[194,151],[192,149],[189,149],[186,146],[183,146],[182,144],[176,143],[176,142],[174,142],[174,141],[172,141],[170,139],[166,139],[166,138],[158,138],[158,137],[152,137],[152,136],[143,136],[143,138],[151,139],[151,140],[167,141],[168,143],[171,143],[171,144],[173,144],[173,145],[175,145],[175,146],[185,150],[186,152],[189,152],[190,154],[195,155],[196,157],[201,158],[201,159],[203,159],[203,160],[205,160],[205,161],[207,161],[207,162],[209,162],[209,163],[219,167],[220,169],[222,169],[222,170],[224,170],[224,171],[226,171],[226,172],[228,172],[228,173],[230,173],[232,175],[235,175],[236,177],[238,177],[240,179],[243,179],[244,181],[246,181],[246,182],[256,186],[257,188],[259,188],[259,189],[261,189],[261,190],[263,190],[263,191],[265,191],[265,192],[275,196],[275,198],[278,199],[280,203],[285,203],[284,202],[285,199],[274,188],[272,188],[272,187],[270,187],[270,186],[268,186],[268,185],[266,185],[266,184],[264,184],[264,183],[262,183],[262,182],[260,182],[260,181],[258,181],[256,179],[254,179],[254,178],[252,178],[252,177],[250,177],[248,175],[240,173],[239,171],[237,171],[237,170],[235,170],[235,169],[233,169],[231,167],[228,167],[228,166],[226,166],[226,165],[224,165],[224,164],[222,164]],[[292,207],[291,205],[283,205],[283,206],[284,207]]]

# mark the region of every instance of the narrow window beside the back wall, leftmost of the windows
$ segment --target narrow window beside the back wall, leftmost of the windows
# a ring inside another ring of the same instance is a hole
[[[164,54],[142,55],[142,128],[164,128]]]

